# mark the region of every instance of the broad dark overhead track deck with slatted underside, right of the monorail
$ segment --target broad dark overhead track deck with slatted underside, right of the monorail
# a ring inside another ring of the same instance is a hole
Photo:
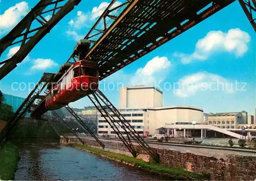
[[[102,80],[234,1],[133,0],[86,58],[98,62]]]

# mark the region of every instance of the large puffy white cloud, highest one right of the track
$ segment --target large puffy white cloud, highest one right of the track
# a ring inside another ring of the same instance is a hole
[[[227,33],[210,31],[204,38],[198,40],[193,54],[175,53],[174,56],[181,58],[184,64],[194,60],[204,61],[212,54],[223,51],[241,57],[247,52],[250,39],[247,32],[238,28],[230,29]]]

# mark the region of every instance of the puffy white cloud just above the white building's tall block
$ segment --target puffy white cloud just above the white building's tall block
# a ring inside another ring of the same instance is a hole
[[[171,63],[167,57],[155,57],[130,79],[132,85],[155,85],[161,83],[168,73]]]

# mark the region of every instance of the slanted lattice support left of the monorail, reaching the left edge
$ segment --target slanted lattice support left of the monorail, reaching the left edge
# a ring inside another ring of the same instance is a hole
[[[19,122],[25,117],[30,107],[46,87],[48,82],[51,81],[54,74],[44,73],[39,82],[35,85],[28,97],[23,101],[22,105],[16,110],[13,117],[8,121],[5,128],[0,132],[0,147],[3,148],[11,132],[18,126]]]

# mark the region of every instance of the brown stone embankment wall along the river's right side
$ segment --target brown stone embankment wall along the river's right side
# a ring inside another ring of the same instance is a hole
[[[102,149],[100,145],[92,138],[82,138],[86,145]],[[104,150],[132,156],[129,150],[118,141],[101,140],[105,145]],[[61,144],[80,144],[76,138],[69,138],[67,143],[65,139],[60,139]],[[151,157],[139,146],[134,144],[138,159],[146,162]],[[256,178],[256,156],[230,154],[223,157],[206,156],[184,151],[172,150],[170,148],[153,148],[160,155],[160,165],[173,168],[181,168],[190,172],[200,174],[210,174],[211,180],[254,180]],[[183,147],[184,149],[187,149]]]

